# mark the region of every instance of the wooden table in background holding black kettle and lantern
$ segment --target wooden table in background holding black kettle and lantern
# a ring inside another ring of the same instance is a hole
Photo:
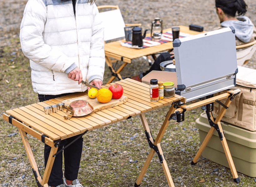
[[[187,26],[181,25],[179,27],[180,27],[180,32],[183,32],[183,33],[187,33],[187,34],[191,34],[191,35],[200,33],[197,31],[189,30],[189,27],[187,27]],[[163,32],[166,32],[166,31],[171,31],[171,28],[163,30]],[[150,34],[148,34],[147,36],[150,36]],[[106,43],[105,47],[104,47],[106,63],[112,73],[112,77],[108,80],[107,84],[111,83],[116,77],[119,80],[121,80],[122,79],[122,76],[120,74],[121,71],[124,69],[124,67],[127,64],[130,64],[133,59],[140,58],[142,56],[154,55],[156,53],[160,53],[160,52],[163,52],[166,50],[173,49],[172,42],[163,43],[158,46],[146,47],[143,49],[133,49],[133,48],[121,46],[120,42],[121,41],[114,41],[114,42]],[[124,40],[122,40],[122,42],[124,42]],[[116,60],[120,60],[122,62],[119,69],[115,70],[115,68],[112,66],[112,61],[111,61],[110,57],[114,58]],[[136,65],[136,64],[134,64],[134,65]]]

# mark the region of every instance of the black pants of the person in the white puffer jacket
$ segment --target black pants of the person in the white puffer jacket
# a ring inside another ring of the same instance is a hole
[[[38,98],[39,98],[39,101],[42,102],[42,101],[49,100],[52,98],[61,97],[63,95],[67,95],[67,94],[61,94],[61,95],[40,95],[40,94],[38,94]],[[60,143],[60,146],[58,147],[58,151],[61,150],[67,144],[69,144],[71,141],[76,139],[78,136],[80,136],[80,135],[62,140]],[[75,142],[73,142],[66,149],[63,150],[64,166],[65,166],[64,176],[67,180],[77,179],[80,160],[81,160],[81,154],[82,154],[82,147],[83,147],[83,138],[81,137],[78,140],[76,140]],[[49,158],[50,151],[51,151],[51,147],[45,144],[45,146],[44,146],[45,167],[47,164],[47,160]],[[62,153],[59,153],[55,157],[55,160],[54,160],[54,163],[52,166],[52,172],[49,177],[48,185],[57,186],[57,185],[61,185],[61,184],[63,184]]]

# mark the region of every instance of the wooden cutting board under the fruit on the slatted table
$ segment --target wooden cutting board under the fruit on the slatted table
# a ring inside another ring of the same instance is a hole
[[[88,95],[84,95],[84,96],[77,97],[77,98],[66,99],[63,101],[63,103],[65,103],[65,107],[67,108],[71,102],[80,100],[80,99],[86,100],[93,107],[94,112],[98,112],[98,111],[101,111],[103,109],[110,108],[110,107],[115,107],[117,105],[125,103],[128,100],[127,96],[123,95],[119,99],[111,99],[110,102],[108,102],[108,103],[100,103],[97,100],[97,98],[92,99],[92,98],[89,98]]]

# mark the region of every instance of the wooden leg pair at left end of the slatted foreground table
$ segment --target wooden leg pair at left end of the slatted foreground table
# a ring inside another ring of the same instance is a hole
[[[47,182],[49,180],[49,176],[50,176],[50,173],[51,173],[51,170],[52,170],[53,161],[55,159],[55,157],[53,157],[53,155],[57,152],[58,147],[52,147],[51,152],[50,152],[50,156],[49,156],[49,159],[48,159],[48,162],[47,162],[47,166],[46,166],[46,169],[44,171],[43,179],[42,179],[42,176],[40,174],[40,170],[37,167],[35,157],[33,155],[32,149],[31,149],[30,144],[28,142],[26,132],[22,131],[21,129],[19,129],[19,132],[20,132],[20,135],[21,135],[23,145],[24,145],[25,150],[27,152],[27,156],[28,156],[29,162],[31,164],[32,171],[35,175],[38,187],[42,187],[42,186],[43,187],[48,187]]]

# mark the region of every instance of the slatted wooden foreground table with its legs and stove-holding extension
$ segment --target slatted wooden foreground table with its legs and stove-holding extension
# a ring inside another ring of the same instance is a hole
[[[84,117],[71,117],[69,120],[65,120],[63,117],[65,114],[64,111],[58,111],[57,113],[51,112],[50,114],[45,114],[43,111],[43,106],[50,106],[52,104],[61,103],[63,100],[66,100],[69,98],[76,98],[76,97],[85,95],[87,93],[73,93],[60,98],[50,99],[44,102],[34,103],[24,107],[7,110],[6,111],[7,114],[5,113],[3,114],[3,118],[7,122],[15,125],[19,129],[22,142],[24,144],[30,164],[32,166],[32,171],[35,175],[37,185],[39,187],[42,187],[42,186],[48,187],[47,182],[48,182],[49,175],[52,170],[52,165],[55,159],[54,155],[57,153],[58,145],[61,140],[78,135],[78,134],[82,136],[88,131],[91,131],[96,128],[100,128],[121,120],[125,120],[136,115],[140,115],[151,151],[147,160],[145,161],[145,164],[140,172],[140,175],[135,183],[135,186],[140,185],[143,179],[143,176],[145,175],[145,172],[150,164],[150,161],[152,160],[153,155],[156,152],[158,154],[160,163],[165,172],[165,176],[167,178],[169,186],[174,187],[174,183],[172,181],[170,171],[168,169],[163,151],[160,146],[160,141],[165,133],[165,130],[168,127],[168,124],[172,115],[184,114],[185,110],[197,108],[205,104],[209,105],[210,103],[213,103],[216,100],[221,100],[224,98],[234,98],[235,94],[239,92],[239,90],[234,90],[234,91],[230,90],[230,91],[226,91],[223,94],[220,94],[219,96],[209,98],[197,103],[193,103],[191,105],[185,105],[185,104],[181,105],[181,103],[186,103],[186,102],[185,102],[185,98],[179,95],[175,95],[172,98],[164,98],[159,100],[158,102],[151,102],[149,97],[150,94],[149,94],[148,84],[144,84],[129,78],[117,81],[116,83],[121,84],[123,86],[124,95],[128,97],[127,102],[112,108],[103,109],[99,112],[91,113]],[[111,84],[114,84],[114,83],[111,83]],[[111,84],[106,84],[105,86],[102,86],[102,87],[108,88]],[[232,101],[231,99],[227,99],[225,106],[228,107],[231,101]],[[153,137],[151,136],[150,127],[147,123],[145,112],[148,112],[157,108],[161,108],[167,105],[170,105],[169,112],[167,113],[165,120],[159,130],[159,133],[156,139],[154,140]],[[216,123],[217,126],[219,127],[220,133],[222,134],[223,134],[223,131],[219,121],[223,117],[226,109],[227,108],[224,107],[222,109],[222,112],[214,121],[214,123]],[[194,158],[193,160],[194,163],[196,163],[204,147],[207,145],[208,143],[207,141],[209,141],[214,131],[214,127],[212,128],[208,133],[209,135],[205,138],[206,143],[202,144],[196,157]],[[37,163],[35,161],[34,155],[32,153],[32,150],[27,138],[27,133],[52,147],[43,176],[41,176],[40,171],[38,170]],[[224,135],[222,139],[223,141],[225,141]],[[227,159],[229,163],[231,163],[230,168],[231,168],[233,177],[238,178],[236,170],[234,168],[232,157],[230,155],[228,146],[225,142],[224,142],[224,148],[225,148],[224,150],[226,150]]]

